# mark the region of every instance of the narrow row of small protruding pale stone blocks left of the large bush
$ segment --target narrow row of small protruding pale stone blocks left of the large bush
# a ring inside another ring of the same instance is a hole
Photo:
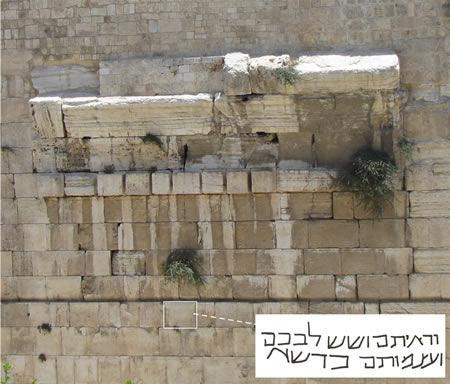
[[[36,174],[40,197],[333,192],[334,170],[232,169],[183,172]],[[151,179],[151,183],[150,183]],[[135,185],[142,180],[145,185]],[[56,183],[57,182],[57,183]],[[50,184],[49,184],[50,183]],[[56,183],[56,184],[55,184]],[[133,187],[132,187],[133,186]]]

